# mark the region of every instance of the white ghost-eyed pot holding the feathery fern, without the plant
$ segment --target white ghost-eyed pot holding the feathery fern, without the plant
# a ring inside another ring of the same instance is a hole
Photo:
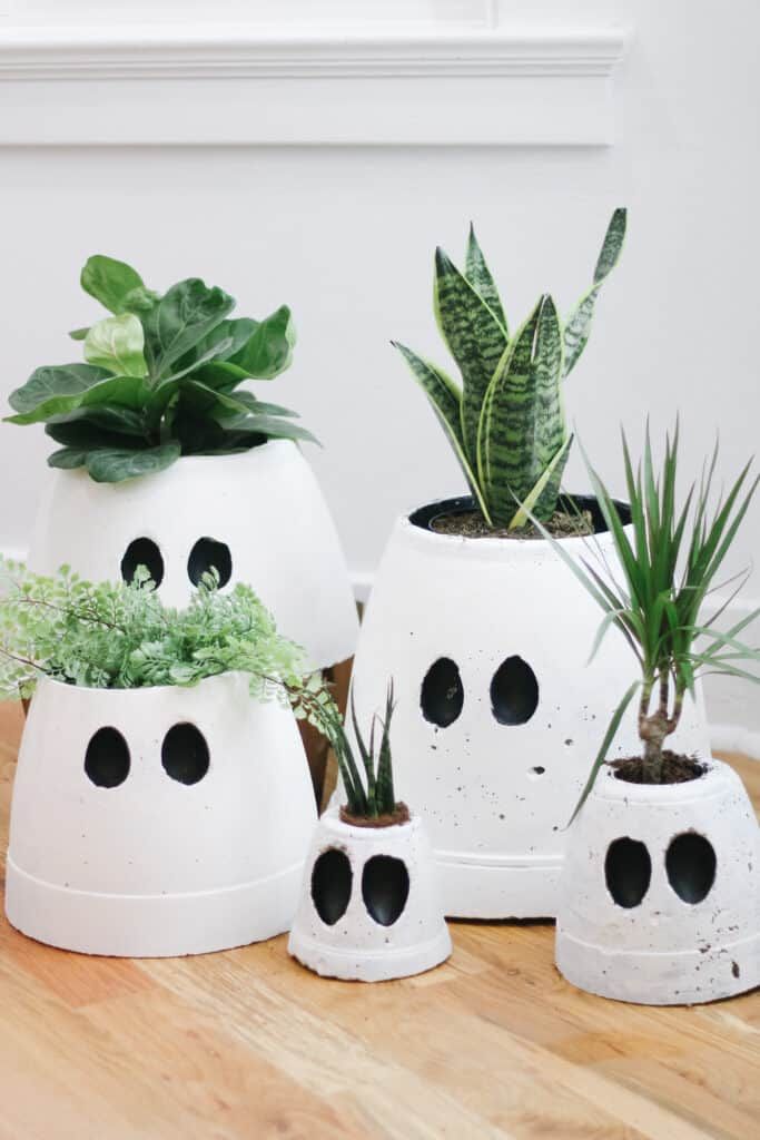
[[[199,954],[288,929],[316,820],[289,709],[42,679],[18,757],[6,912],[90,954]]]

